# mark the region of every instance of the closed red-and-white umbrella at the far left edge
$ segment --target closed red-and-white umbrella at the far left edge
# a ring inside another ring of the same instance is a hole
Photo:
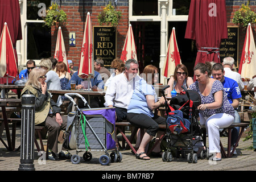
[[[13,77],[18,75],[16,58],[11,42],[11,36],[7,23],[3,26],[0,39],[0,77]]]

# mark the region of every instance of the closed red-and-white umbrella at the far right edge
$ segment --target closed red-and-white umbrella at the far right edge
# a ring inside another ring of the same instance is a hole
[[[243,44],[239,73],[242,78],[253,78],[256,75],[256,48],[251,24],[248,24],[245,43]]]

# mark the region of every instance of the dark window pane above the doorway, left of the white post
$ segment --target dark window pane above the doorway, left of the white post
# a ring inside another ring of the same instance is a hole
[[[133,0],[133,16],[158,15],[158,0]]]

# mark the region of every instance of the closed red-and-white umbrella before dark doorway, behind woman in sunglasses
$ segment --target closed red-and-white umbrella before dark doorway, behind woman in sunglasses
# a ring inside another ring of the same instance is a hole
[[[175,28],[172,28],[172,34],[168,43],[166,60],[164,61],[162,75],[170,78],[174,75],[174,70],[177,64],[181,64],[180,52],[177,47]]]

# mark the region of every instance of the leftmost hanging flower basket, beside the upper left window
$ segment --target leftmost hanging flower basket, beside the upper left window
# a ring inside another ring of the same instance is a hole
[[[46,11],[46,17],[44,18],[44,22],[47,26],[51,28],[52,26],[61,26],[67,21],[67,14],[60,9],[57,3],[52,3],[49,9]]]

